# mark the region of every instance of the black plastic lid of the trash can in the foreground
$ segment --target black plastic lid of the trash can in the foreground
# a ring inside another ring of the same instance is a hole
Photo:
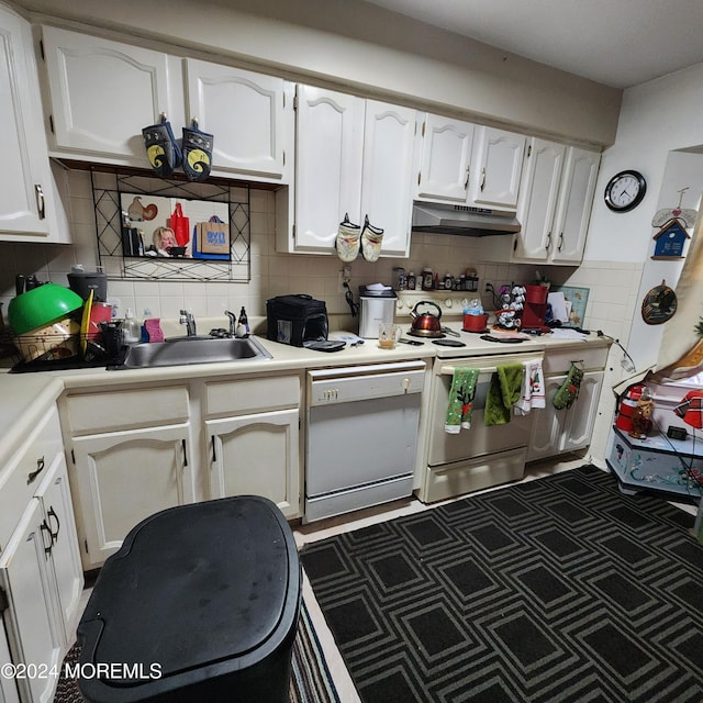
[[[142,665],[147,673],[157,663],[159,688],[217,662],[236,669],[297,623],[299,599],[294,540],[272,502],[174,507],[137,525],[105,562],[78,629],[81,663]]]

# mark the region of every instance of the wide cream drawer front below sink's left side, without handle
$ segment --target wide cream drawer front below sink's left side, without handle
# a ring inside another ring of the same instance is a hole
[[[94,434],[186,422],[190,417],[186,386],[69,395],[71,434]]]

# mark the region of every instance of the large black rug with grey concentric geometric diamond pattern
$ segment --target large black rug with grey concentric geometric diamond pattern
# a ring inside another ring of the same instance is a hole
[[[301,558],[366,703],[701,703],[692,524],[583,467],[323,539]]]

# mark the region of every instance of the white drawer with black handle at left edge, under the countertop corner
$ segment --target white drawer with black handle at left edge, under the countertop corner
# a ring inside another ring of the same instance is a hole
[[[27,427],[27,439],[0,469],[0,551],[14,532],[42,479],[48,473],[64,444],[58,411],[51,412],[35,427]]]

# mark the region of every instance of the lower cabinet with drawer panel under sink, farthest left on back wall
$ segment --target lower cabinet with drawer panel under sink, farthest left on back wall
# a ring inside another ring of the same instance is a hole
[[[60,400],[83,568],[145,517],[196,500],[186,384],[69,393]]]

